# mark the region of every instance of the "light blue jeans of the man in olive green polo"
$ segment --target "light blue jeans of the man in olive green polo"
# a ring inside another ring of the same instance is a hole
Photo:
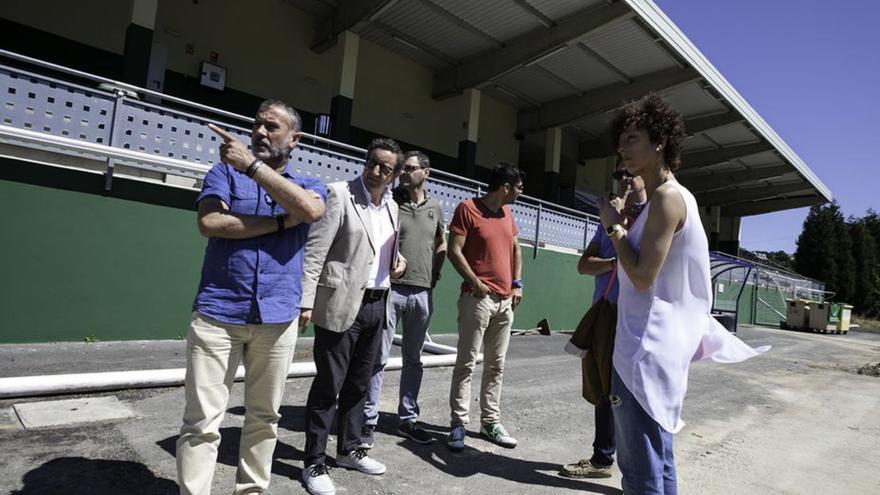
[[[379,399],[385,379],[385,365],[391,354],[394,332],[399,317],[403,318],[403,369],[400,371],[400,402],[397,414],[400,422],[415,421],[419,417],[419,390],[422,388],[422,347],[434,307],[431,289],[410,285],[391,286],[391,314],[389,327],[384,330],[382,344],[373,367],[364,424],[375,426],[379,421]]]

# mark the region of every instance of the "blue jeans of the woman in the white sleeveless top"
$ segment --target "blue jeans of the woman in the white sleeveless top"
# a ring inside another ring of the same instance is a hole
[[[617,465],[627,495],[676,495],[672,433],[664,430],[612,371],[611,409],[614,416]]]

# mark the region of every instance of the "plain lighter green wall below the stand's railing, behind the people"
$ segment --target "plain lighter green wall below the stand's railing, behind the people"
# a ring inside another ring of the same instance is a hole
[[[54,175],[0,179],[0,343],[185,335],[205,249],[195,212],[184,207],[192,198],[160,206],[143,196],[165,186],[117,181],[114,197],[103,194],[101,176],[38,168]],[[78,184],[62,189],[55,182]],[[135,187],[155,190],[123,193]],[[554,330],[574,328],[592,296],[592,277],[577,274],[575,255],[539,250],[533,259],[529,246],[523,254],[526,288],[514,326],[533,328],[546,317]],[[447,263],[435,291],[435,334],[456,331],[460,281]]]

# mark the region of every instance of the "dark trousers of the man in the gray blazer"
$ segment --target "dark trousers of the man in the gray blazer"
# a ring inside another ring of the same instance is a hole
[[[317,375],[306,401],[305,466],[324,464],[334,416],[337,453],[347,454],[360,445],[367,386],[384,325],[383,297],[365,300],[354,323],[342,333],[315,326]]]

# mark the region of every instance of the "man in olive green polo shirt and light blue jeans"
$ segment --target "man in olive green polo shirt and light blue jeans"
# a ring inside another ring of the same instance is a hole
[[[394,190],[394,201],[400,209],[400,253],[406,258],[407,269],[403,277],[391,283],[390,324],[382,338],[364,410],[361,445],[365,448],[373,446],[385,365],[400,317],[403,318],[403,369],[400,372],[397,432],[420,444],[434,441],[430,433],[416,425],[416,419],[422,386],[422,347],[433,312],[431,289],[440,279],[446,257],[446,224],[440,203],[425,191],[431,174],[428,156],[421,151],[409,151],[403,155],[403,160],[403,174],[400,175],[400,185]]]

